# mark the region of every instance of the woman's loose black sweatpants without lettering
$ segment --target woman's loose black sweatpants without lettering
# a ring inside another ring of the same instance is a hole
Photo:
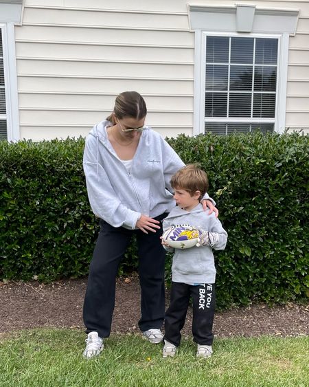
[[[161,221],[166,215],[155,219]],[[139,329],[160,329],[163,324],[165,250],[160,239],[162,225],[157,232],[145,234],[141,230],[115,228],[101,219],[84,298],[83,318],[87,333],[97,331],[101,338],[107,338],[111,333],[117,269],[134,233],[137,235],[141,285]]]

